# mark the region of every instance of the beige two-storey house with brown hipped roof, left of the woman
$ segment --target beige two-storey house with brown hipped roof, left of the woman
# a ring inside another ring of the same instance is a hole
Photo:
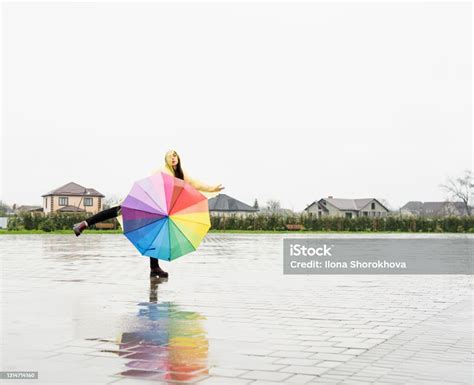
[[[43,211],[45,214],[60,213],[97,213],[102,210],[104,195],[93,188],[69,182],[44,195]]]

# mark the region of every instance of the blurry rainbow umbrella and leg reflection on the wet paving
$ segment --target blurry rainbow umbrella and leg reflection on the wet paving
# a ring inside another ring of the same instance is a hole
[[[171,302],[157,303],[157,284],[154,279],[151,283],[150,302],[138,304],[138,322],[119,338],[119,355],[129,360],[126,366],[131,368],[120,375],[196,380],[208,373],[208,341],[201,325],[204,317],[182,311]]]

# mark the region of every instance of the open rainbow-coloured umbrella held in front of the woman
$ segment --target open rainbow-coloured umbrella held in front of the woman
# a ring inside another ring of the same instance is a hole
[[[142,255],[165,261],[196,250],[211,227],[207,198],[164,172],[135,182],[121,206],[125,236]]]

